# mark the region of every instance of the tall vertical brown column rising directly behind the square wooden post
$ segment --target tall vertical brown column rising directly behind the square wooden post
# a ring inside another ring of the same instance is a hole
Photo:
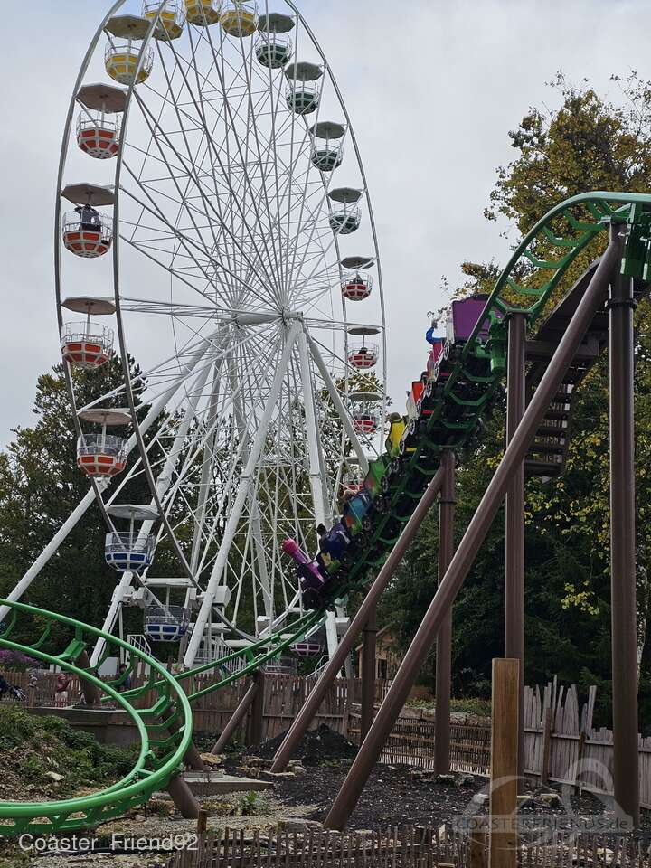
[[[513,314],[508,322],[506,381],[506,443],[514,437],[525,403],[526,314]],[[518,777],[524,786],[524,461],[506,489],[505,656],[520,661],[518,721]]]

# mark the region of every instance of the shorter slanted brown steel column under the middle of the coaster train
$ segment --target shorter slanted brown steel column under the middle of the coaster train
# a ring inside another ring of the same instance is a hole
[[[410,547],[411,542],[413,542],[423,519],[434,504],[439,494],[440,486],[443,484],[443,476],[443,468],[439,467],[436,476],[429,483],[425,494],[420,498],[419,505],[411,515],[409,522],[405,525],[400,539],[393,546],[392,552],[384,563],[382,570],[378,573],[377,579],[371,585],[357,614],[344,633],[335,654],[331,657],[323,674],[307,696],[306,703],[300,712],[298,712],[295,721],[289,728],[285,741],[278,748],[271,771],[284,771],[288,761],[292,759],[292,752],[296,749],[298,742],[303,738],[310,723],[314,720],[316,712],[318,712],[321,703],[325,699],[325,694],[332,686],[335,678],[339,676],[341,667],[344,665],[344,660],[353,649],[354,643],[368,621],[372,609],[377,606],[382,592],[392,580],[393,573],[397,570],[405,552]]]

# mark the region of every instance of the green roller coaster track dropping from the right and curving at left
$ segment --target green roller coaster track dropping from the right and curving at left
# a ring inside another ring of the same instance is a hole
[[[561,203],[538,222],[514,250],[486,302],[485,316],[480,318],[458,358],[451,360],[445,385],[441,384],[439,392],[429,394],[421,403],[420,417],[413,420],[406,432],[401,451],[394,449],[392,454],[373,462],[372,474],[377,476],[373,526],[355,537],[351,563],[335,574],[333,597],[343,598],[377,570],[436,472],[441,451],[464,448],[475,435],[504,378],[505,316],[515,310],[526,311],[529,332],[533,333],[561,279],[580,253],[608,230],[611,222],[627,223],[629,227],[623,273],[639,280],[651,279],[651,195],[586,193]],[[550,257],[549,251],[553,250],[560,252],[557,258],[542,258]],[[478,335],[486,317],[491,322],[489,339],[481,343]],[[170,675],[152,657],[95,627],[22,603],[0,600],[0,605],[9,607],[12,613],[0,633],[0,647],[24,652],[46,665],[59,665],[96,685],[105,694],[102,702],[118,703],[127,713],[140,740],[133,769],[109,788],[91,796],[48,803],[0,803],[0,832],[8,837],[98,826],[145,803],[183,768],[184,755],[192,740],[191,703],[278,657],[325,617],[325,609],[308,612],[288,628],[289,633],[287,630],[275,633],[231,656],[180,675]],[[59,654],[42,650],[55,625],[57,630],[63,628],[72,635]],[[38,638],[25,645],[14,641],[16,632]],[[103,655],[97,667],[87,670],[80,665],[80,657],[99,638],[106,643]],[[97,675],[99,666],[120,651],[129,656],[129,670],[108,683],[101,681]],[[224,674],[223,667],[235,660],[242,662],[241,668]],[[146,683],[119,692],[121,681],[137,663],[148,668]],[[203,689],[193,690],[194,676],[220,670],[221,678]]]

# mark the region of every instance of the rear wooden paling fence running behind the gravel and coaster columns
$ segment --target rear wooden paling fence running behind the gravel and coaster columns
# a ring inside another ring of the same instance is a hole
[[[28,673],[6,673],[10,684],[21,686],[27,694],[27,704],[50,707],[55,705],[56,675],[40,673],[36,685],[29,686]],[[134,684],[142,683],[143,673],[134,676]],[[195,676],[188,690],[202,690],[212,684],[214,675]],[[262,738],[276,738],[288,729],[307,695],[316,684],[314,678],[297,675],[267,675]],[[375,700],[382,703],[386,682],[377,682]],[[241,680],[209,693],[193,703],[194,728],[199,732],[221,732],[246,691]],[[524,769],[542,783],[554,781],[573,784],[598,793],[612,794],[613,745],[612,732],[595,729],[592,725],[597,688],[590,688],[588,702],[579,706],[575,686],[564,688],[556,680],[542,690],[524,688]],[[359,679],[335,681],[325,696],[316,716],[315,725],[327,724],[331,729],[359,741],[362,683]],[[68,703],[80,698],[80,684],[71,681]],[[145,694],[138,704],[151,704]],[[382,750],[382,762],[406,764],[432,769],[434,764],[434,714],[406,708],[396,722]],[[640,800],[651,808],[651,738],[639,739]],[[458,771],[486,775],[490,764],[490,723],[480,720],[453,722],[451,728],[452,768]]]

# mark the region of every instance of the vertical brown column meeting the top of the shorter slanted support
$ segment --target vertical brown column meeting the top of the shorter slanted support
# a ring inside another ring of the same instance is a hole
[[[455,467],[457,461],[448,449],[441,458],[445,480],[439,499],[439,585],[454,555]],[[443,621],[437,637],[436,718],[434,720],[434,770],[439,775],[450,769],[449,707],[452,690],[452,609]]]

